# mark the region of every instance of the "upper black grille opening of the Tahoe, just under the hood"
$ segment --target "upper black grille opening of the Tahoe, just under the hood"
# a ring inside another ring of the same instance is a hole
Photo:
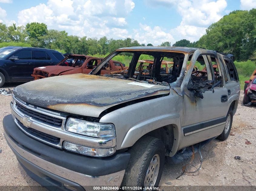
[[[39,113],[39,112],[30,110],[30,109],[22,106],[18,102],[16,102],[16,107],[19,111],[21,111],[25,115],[27,115],[29,117],[33,117],[33,118],[37,119],[38,121],[40,121],[42,123],[46,123],[50,126],[55,126],[55,127],[61,127],[62,126],[62,119],[52,117],[52,116],[48,116],[48,115],[45,115],[43,113]]]

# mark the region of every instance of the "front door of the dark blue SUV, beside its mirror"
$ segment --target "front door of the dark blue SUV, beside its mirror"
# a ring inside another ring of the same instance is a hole
[[[18,60],[10,60],[8,65],[11,81],[26,81],[32,80],[31,74],[34,69],[34,60],[32,59],[32,50],[23,49],[18,50],[12,56],[17,56]],[[12,57],[10,56],[10,57]],[[9,58],[10,58],[9,57]]]

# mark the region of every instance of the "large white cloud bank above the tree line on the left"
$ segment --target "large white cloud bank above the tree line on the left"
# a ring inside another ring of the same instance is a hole
[[[48,0],[20,11],[18,24],[43,22],[72,35],[125,38],[126,17],[134,7],[132,0]]]

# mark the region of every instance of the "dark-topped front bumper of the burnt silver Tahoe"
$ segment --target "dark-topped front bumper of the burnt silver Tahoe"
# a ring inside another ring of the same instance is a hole
[[[95,158],[54,148],[23,133],[11,115],[5,116],[3,127],[5,139],[18,161],[42,186],[78,191],[121,185],[130,158],[127,152]]]

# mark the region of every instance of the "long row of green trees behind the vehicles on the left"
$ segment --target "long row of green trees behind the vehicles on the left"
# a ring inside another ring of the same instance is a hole
[[[68,35],[65,30],[48,30],[46,24],[38,22],[18,27],[15,23],[9,27],[0,23],[0,43],[5,42],[26,43],[32,47],[56,49],[62,53],[86,55],[105,55],[122,47],[145,46],[145,44],[140,44],[132,38],[115,40],[112,38],[108,39],[107,37],[97,39]],[[148,43],[146,46],[153,45]]]

